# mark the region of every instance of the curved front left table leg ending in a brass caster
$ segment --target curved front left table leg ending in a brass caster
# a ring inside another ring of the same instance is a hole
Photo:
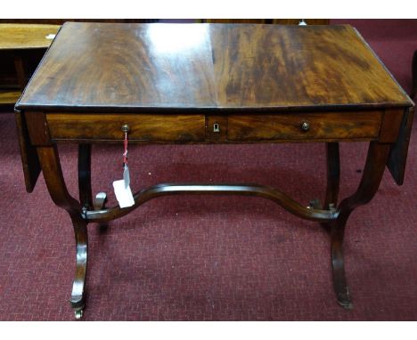
[[[56,146],[38,147],[37,155],[42,166],[46,186],[53,202],[69,213],[74,227],[76,240],[76,272],[72,285],[70,304],[75,310],[76,318],[79,319],[82,316],[82,311],[86,303],[87,223],[81,215],[81,206],[79,202],[75,198],[72,198],[67,190],[62,176],[60,158]],[[84,177],[84,180],[85,179],[86,177]]]

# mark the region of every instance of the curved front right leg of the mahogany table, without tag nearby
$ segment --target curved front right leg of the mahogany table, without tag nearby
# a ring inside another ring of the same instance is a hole
[[[342,200],[338,210],[339,216],[331,225],[331,264],[333,270],[333,287],[338,303],[351,309],[353,304],[345,277],[345,263],[343,259],[343,238],[349,215],[357,206],[362,206],[373,198],[380,186],[388,159],[390,145],[387,143],[371,142],[364,166],[364,173],[356,192]]]

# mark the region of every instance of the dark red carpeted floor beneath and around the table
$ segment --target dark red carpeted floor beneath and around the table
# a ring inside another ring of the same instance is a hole
[[[392,52],[383,51],[382,60]],[[414,126],[405,185],[387,171],[347,224],[352,311],[336,303],[330,241],[317,223],[262,198],[179,196],[146,203],[106,233],[89,225],[85,320],[416,320],[416,134]],[[77,197],[77,148],[60,152]],[[110,204],[121,152],[121,145],[93,149],[93,189],[109,192]],[[343,198],[356,190],[366,144],[344,143],[340,152]],[[134,190],[258,182],[306,205],[324,195],[322,144],[135,146],[129,154]],[[32,194],[24,190],[12,113],[0,114],[0,212],[0,320],[73,320],[70,218],[53,205],[42,176]]]

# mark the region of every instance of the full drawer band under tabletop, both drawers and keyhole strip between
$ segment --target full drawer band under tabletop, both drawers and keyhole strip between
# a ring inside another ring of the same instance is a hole
[[[384,112],[276,114],[46,113],[53,142],[240,143],[376,141]]]

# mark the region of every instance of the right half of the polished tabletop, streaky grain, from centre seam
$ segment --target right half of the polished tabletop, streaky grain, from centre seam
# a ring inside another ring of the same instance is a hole
[[[350,26],[211,28],[225,107],[372,105],[407,101]],[[227,51],[225,52],[225,47]]]

